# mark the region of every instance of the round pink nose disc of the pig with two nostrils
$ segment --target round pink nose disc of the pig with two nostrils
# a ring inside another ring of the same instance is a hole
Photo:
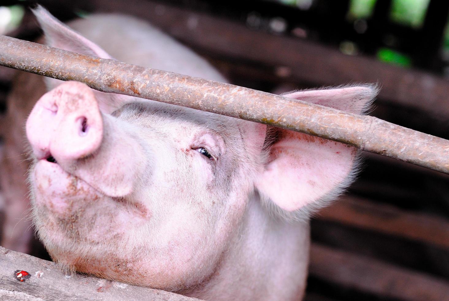
[[[28,117],[26,135],[37,159],[67,165],[94,153],[103,119],[92,90],[68,81],[44,94]]]

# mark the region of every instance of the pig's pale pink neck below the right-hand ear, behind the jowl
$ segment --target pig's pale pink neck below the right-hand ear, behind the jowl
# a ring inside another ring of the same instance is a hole
[[[308,221],[270,217],[257,195],[216,271],[188,296],[204,300],[300,300],[309,253]]]

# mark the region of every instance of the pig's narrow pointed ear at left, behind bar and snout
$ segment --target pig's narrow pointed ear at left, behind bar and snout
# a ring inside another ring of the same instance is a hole
[[[44,31],[46,45],[98,58],[112,58],[100,46],[60,22],[42,6],[37,5],[32,11]],[[62,81],[50,77],[45,77],[44,80],[47,90],[52,90],[62,83]],[[99,102],[101,111],[106,113],[113,112],[123,105],[123,103],[129,102],[132,99],[132,97],[125,95],[99,91],[94,91],[94,94]]]

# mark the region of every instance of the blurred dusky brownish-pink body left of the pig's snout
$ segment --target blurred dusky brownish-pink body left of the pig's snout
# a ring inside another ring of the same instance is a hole
[[[42,76],[17,72],[13,88],[7,98],[7,114],[0,128],[4,137],[0,161],[2,171],[0,186],[4,193],[5,204],[0,243],[6,248],[23,253],[30,253],[33,236],[26,184],[30,151],[26,141],[25,122],[34,104],[45,92]]]

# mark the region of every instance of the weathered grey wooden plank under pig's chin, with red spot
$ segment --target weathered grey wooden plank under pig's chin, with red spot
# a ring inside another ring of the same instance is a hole
[[[31,277],[20,282],[14,274],[16,270],[24,270]],[[54,262],[0,247],[0,300],[194,301],[198,299],[81,274],[64,274]]]

